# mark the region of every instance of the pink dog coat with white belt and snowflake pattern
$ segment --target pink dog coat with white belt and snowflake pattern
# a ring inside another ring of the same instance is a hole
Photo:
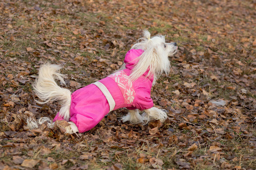
[[[131,69],[142,53],[141,49],[129,50],[124,61],[126,69],[73,92],[69,121],[76,124],[80,133],[92,129],[106,114],[115,109],[142,111],[153,107],[150,91],[154,76],[147,77],[148,71],[146,71],[133,82],[129,79]],[[63,120],[59,113],[53,121],[56,120]]]

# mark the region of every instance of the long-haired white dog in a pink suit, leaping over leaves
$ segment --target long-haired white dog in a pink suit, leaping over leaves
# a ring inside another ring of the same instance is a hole
[[[33,85],[35,94],[42,100],[37,102],[59,101],[61,104],[53,123],[48,125],[65,120],[68,122],[66,133],[84,133],[96,126],[106,114],[119,108],[128,109],[127,115],[122,117],[123,122],[164,122],[167,114],[154,107],[150,91],[160,74],[169,73],[171,65],[168,57],[173,56],[177,48],[176,42],[166,43],[165,36],[151,37],[150,32],[144,30],[143,37],[127,52],[120,70],[72,94],[55,81],[57,79],[65,84],[65,75],[58,72],[61,66],[42,65]],[[141,115],[139,111],[144,113]],[[49,119],[40,118],[39,124],[45,121]],[[36,124],[35,121],[28,122]]]

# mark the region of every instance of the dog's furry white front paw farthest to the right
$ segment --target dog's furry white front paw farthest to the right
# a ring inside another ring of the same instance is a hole
[[[150,109],[144,110],[143,120],[146,121],[146,124],[150,120],[160,120],[161,122],[164,122],[166,118],[167,118],[167,114],[162,109],[152,107]]]

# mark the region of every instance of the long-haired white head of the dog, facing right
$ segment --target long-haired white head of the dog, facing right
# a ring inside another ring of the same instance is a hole
[[[177,52],[176,42],[166,43],[165,36],[162,35],[150,37],[150,32],[147,30],[143,34],[139,42],[132,47],[132,49],[142,49],[144,52],[139,56],[130,78],[135,80],[148,69],[148,76],[156,77],[163,72],[168,74],[171,67],[168,56],[173,56]]]

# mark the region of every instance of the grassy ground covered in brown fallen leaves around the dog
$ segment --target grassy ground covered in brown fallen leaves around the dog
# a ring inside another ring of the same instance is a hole
[[[255,1],[0,2],[0,169],[255,169]],[[171,72],[151,96],[166,122],[92,130],[30,130],[55,117],[32,83],[45,62],[63,66],[72,92],[113,73],[148,29],[177,42]]]

